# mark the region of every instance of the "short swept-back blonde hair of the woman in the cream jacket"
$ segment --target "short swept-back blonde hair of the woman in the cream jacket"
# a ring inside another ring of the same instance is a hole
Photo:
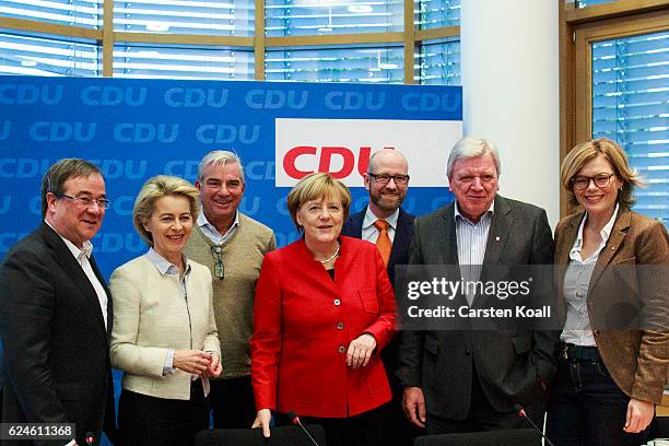
[[[153,178],[149,178],[134,199],[134,206],[132,207],[132,224],[139,235],[151,247],[153,247],[153,236],[144,228],[144,223],[151,218],[155,202],[168,196],[187,198],[190,207],[190,215],[193,221],[197,220],[198,213],[200,212],[200,207],[198,204],[200,192],[187,180],[167,175],[157,175]]]

